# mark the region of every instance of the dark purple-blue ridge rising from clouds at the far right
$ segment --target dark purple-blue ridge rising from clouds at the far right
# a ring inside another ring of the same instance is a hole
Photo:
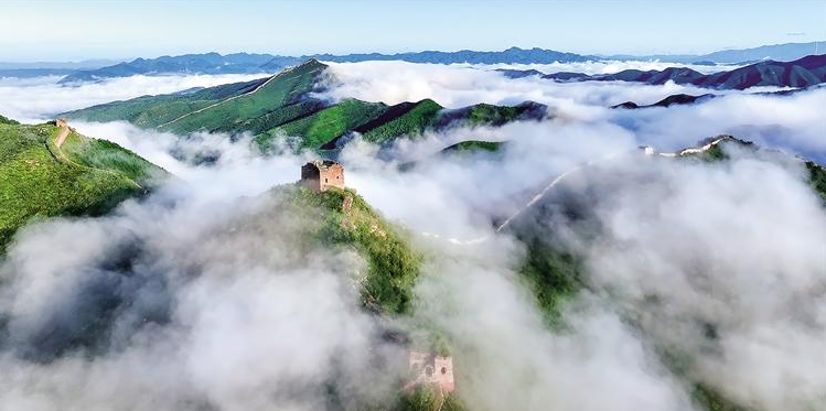
[[[745,67],[714,74],[702,74],[687,67],[663,71],[625,69],[614,74],[588,75],[560,72],[545,74],[530,71],[502,69],[511,78],[540,76],[557,82],[637,82],[652,85],[674,82],[711,89],[747,89],[754,86],[808,87],[826,83],[826,55],[811,55],[794,62],[761,62]]]

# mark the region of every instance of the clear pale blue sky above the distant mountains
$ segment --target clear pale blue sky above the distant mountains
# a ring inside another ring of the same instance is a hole
[[[0,0],[0,61],[503,50],[700,54],[826,40],[826,0]]]

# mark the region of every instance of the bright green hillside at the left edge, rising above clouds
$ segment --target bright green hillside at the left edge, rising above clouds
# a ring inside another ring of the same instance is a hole
[[[33,219],[103,214],[165,175],[115,143],[74,131],[57,148],[60,132],[49,123],[0,122],[0,253]]]

